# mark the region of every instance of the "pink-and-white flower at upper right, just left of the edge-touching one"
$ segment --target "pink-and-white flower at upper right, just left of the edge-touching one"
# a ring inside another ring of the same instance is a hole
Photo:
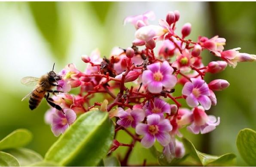
[[[201,42],[201,46],[204,49],[210,50],[214,53],[214,55],[220,57],[220,53],[224,49],[224,45],[226,44],[225,38],[219,38],[218,35],[213,38],[199,37],[199,42]]]

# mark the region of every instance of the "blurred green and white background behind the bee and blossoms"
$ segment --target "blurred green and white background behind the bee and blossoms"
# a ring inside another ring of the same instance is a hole
[[[152,10],[156,20],[165,18],[168,11],[179,10],[181,26],[192,23],[189,36],[198,35],[226,38],[226,49],[241,47],[241,52],[256,54],[255,2],[0,2],[0,138],[15,129],[27,128],[34,139],[27,147],[44,155],[57,138],[44,123],[49,108],[46,101],[30,111],[22,97],[32,88],[21,85],[24,76],[41,76],[52,68],[60,71],[68,63],[79,70],[85,65],[82,54],[90,55],[94,48],[102,56],[109,56],[113,47],[129,47],[134,39],[134,27],[123,26],[128,15]],[[205,63],[214,60],[204,55]],[[238,154],[235,140],[239,130],[256,129],[256,63],[240,63],[218,75],[207,75],[207,81],[226,79],[230,87],[217,92],[217,106],[210,114],[221,117],[216,130],[206,135],[192,135],[183,129],[195,147],[206,153],[221,155],[234,152],[238,165],[246,165]],[[119,134],[122,142],[130,139]],[[123,152],[126,148],[118,149]],[[130,162],[140,164],[143,158],[155,159],[149,150],[135,147]]]

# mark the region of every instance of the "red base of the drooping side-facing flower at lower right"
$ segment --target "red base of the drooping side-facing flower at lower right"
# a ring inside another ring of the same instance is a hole
[[[202,106],[194,108],[193,116],[194,122],[197,126],[204,125],[208,119],[208,115],[204,112],[204,108]]]

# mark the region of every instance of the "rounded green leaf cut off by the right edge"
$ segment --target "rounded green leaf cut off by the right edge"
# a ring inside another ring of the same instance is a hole
[[[256,132],[253,129],[241,130],[236,145],[244,161],[250,166],[256,166]]]

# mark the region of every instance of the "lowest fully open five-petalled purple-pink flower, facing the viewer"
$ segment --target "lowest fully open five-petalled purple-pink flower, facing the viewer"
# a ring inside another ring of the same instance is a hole
[[[155,143],[155,138],[162,144],[167,146],[171,141],[171,136],[168,132],[172,130],[171,123],[168,119],[161,120],[158,114],[151,114],[147,117],[147,124],[139,123],[136,126],[136,133],[143,135],[141,144],[149,148]]]

